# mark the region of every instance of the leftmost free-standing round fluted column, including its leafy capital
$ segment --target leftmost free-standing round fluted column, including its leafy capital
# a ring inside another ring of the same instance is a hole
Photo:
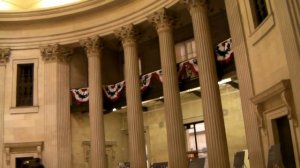
[[[81,40],[88,57],[89,117],[91,129],[91,168],[107,168],[103,120],[101,48],[99,37]]]

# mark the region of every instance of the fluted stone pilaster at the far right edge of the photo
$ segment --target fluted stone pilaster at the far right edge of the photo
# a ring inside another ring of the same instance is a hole
[[[295,109],[300,120],[300,3],[299,0],[274,1],[274,16],[277,17],[284,52],[289,69]],[[298,132],[300,137],[300,132]],[[300,139],[298,139],[298,144]],[[298,147],[300,150],[300,146]]]

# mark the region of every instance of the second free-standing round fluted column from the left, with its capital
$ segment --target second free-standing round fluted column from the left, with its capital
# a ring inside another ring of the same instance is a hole
[[[136,31],[133,25],[121,27],[115,35],[122,40],[125,57],[126,102],[130,167],[146,168],[146,149]]]

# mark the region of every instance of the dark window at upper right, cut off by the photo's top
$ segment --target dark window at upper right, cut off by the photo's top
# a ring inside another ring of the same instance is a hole
[[[268,9],[265,0],[252,0],[253,19],[255,26],[258,26],[268,16]]]

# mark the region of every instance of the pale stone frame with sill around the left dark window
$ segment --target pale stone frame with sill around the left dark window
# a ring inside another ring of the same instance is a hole
[[[32,106],[17,106],[17,73],[18,65],[33,64],[33,104]],[[12,100],[10,113],[38,112],[38,59],[13,60],[12,62]]]

